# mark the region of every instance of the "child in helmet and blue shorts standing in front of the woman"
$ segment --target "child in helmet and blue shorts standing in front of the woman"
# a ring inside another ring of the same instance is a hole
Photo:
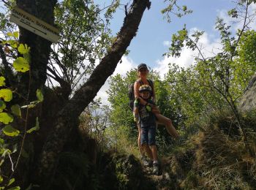
[[[156,117],[151,111],[151,106],[154,102],[151,101],[152,89],[148,85],[140,86],[140,97],[147,102],[146,105],[140,104],[138,99],[135,100],[134,115],[136,121],[140,123],[141,129],[141,145],[148,154],[148,157],[153,160],[153,174],[159,175],[159,163],[157,159],[156,146]]]

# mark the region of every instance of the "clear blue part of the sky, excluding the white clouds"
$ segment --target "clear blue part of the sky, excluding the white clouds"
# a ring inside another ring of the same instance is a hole
[[[175,15],[172,15],[173,21],[167,23],[161,14],[161,10],[167,4],[161,0],[151,1],[151,9],[144,13],[138,34],[129,46],[128,57],[135,64],[145,62],[154,67],[157,60],[161,59],[162,54],[167,51],[167,46],[163,43],[170,41],[172,34],[181,29],[185,23],[187,28],[199,28],[211,34],[212,39],[216,38],[217,32],[214,30],[214,23],[217,15],[220,11],[230,9],[233,5],[230,0],[183,0],[179,2],[192,9],[192,14],[186,15],[184,18],[176,18]],[[121,27],[123,18],[124,10],[118,9],[111,25],[113,34],[116,34]]]

